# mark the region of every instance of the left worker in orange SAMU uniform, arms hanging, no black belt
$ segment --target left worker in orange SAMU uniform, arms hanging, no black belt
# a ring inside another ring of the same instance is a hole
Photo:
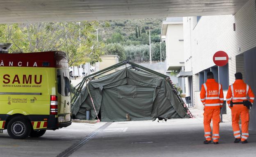
[[[223,105],[223,91],[222,85],[217,83],[212,72],[207,73],[207,81],[202,84],[200,92],[201,102],[204,105],[203,126],[204,137],[206,141],[204,144],[211,143],[213,139],[214,144],[219,144],[219,123],[220,110]],[[210,123],[213,119],[213,136],[211,136]]]

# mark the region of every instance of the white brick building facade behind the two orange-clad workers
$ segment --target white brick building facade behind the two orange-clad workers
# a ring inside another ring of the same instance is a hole
[[[212,71],[215,80],[222,84],[224,98],[234,74],[241,72],[243,80],[256,93],[256,1],[248,2],[234,15],[214,15],[183,17],[184,71],[191,71],[193,104],[203,110],[200,101],[201,85],[206,81],[206,73]],[[226,66],[215,66],[213,55],[225,51],[229,55]],[[225,100],[225,99],[224,99]],[[256,129],[256,107],[251,108],[250,129]],[[231,120],[231,110],[227,107],[225,119]]]

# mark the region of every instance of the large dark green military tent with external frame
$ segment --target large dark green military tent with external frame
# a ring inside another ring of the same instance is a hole
[[[132,66],[95,79],[127,64]],[[79,85],[72,105],[75,119],[85,119],[87,110],[90,110],[90,119],[100,113],[103,122],[126,121],[126,113],[131,120],[192,117],[167,75],[129,61],[89,75]]]

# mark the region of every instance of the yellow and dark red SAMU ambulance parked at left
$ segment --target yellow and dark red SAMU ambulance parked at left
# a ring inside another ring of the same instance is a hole
[[[0,53],[0,130],[41,137],[71,125],[71,86],[62,51]]]

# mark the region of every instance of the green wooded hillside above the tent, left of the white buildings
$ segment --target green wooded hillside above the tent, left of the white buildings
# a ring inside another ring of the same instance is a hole
[[[105,54],[118,55],[119,61],[149,61],[149,30],[151,32],[151,57],[165,60],[165,43],[161,45],[160,33],[164,19],[133,19],[99,21],[98,37],[105,43]]]

